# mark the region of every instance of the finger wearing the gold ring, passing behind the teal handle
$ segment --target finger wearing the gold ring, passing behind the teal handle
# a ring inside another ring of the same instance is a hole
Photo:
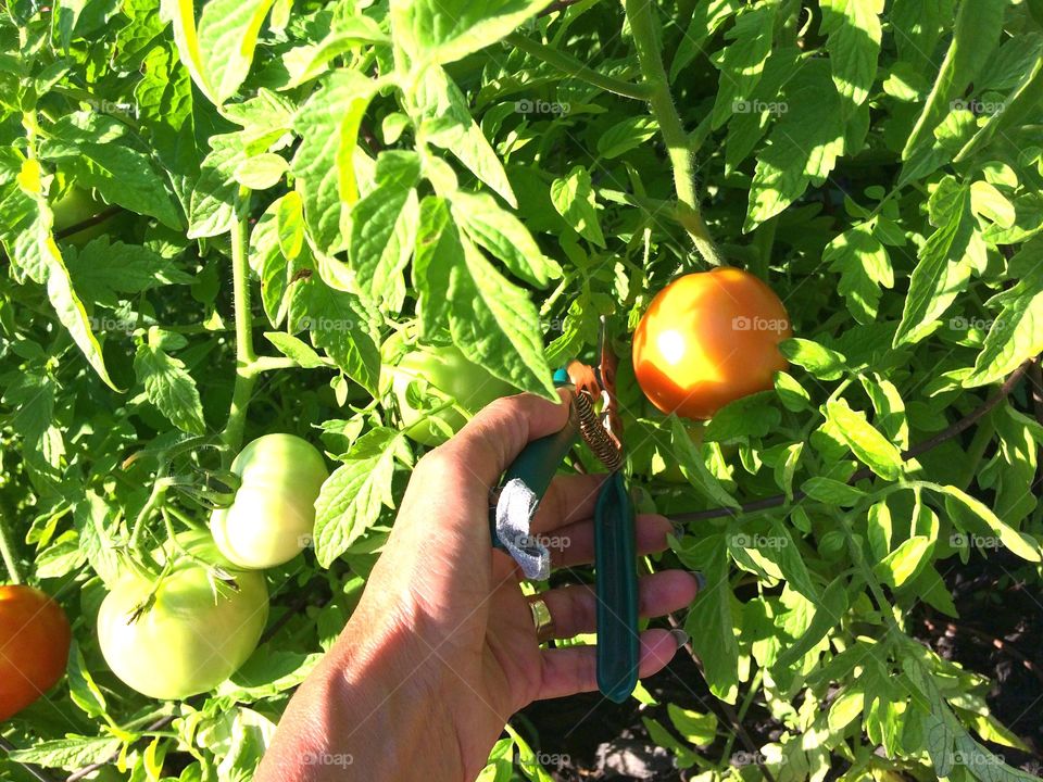
[[[684,570],[663,570],[638,581],[638,613],[659,617],[687,608],[699,593],[695,577]],[[554,638],[568,639],[596,629],[598,598],[587,585],[560,586],[539,595],[554,620]]]

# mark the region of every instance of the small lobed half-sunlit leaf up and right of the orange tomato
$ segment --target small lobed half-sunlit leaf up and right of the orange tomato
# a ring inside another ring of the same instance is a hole
[[[883,243],[869,223],[859,223],[835,237],[822,252],[822,263],[840,273],[837,291],[862,324],[876,321],[882,288],[894,287],[894,272]]]

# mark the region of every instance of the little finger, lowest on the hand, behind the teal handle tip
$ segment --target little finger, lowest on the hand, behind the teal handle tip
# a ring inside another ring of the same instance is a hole
[[[638,676],[658,673],[679,647],[678,639],[669,630],[645,630],[641,633]],[[593,646],[548,649],[541,653],[541,661],[543,670],[537,701],[598,689],[598,651]]]

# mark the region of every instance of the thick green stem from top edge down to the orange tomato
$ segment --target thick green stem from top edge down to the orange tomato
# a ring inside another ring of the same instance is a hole
[[[711,266],[722,266],[725,261],[714,245],[709,229],[699,211],[689,138],[674,105],[670,84],[663,67],[663,60],[659,58],[652,3],[649,0],[625,0],[624,5],[638,50],[638,62],[641,64],[641,72],[651,90],[649,103],[652,106],[652,114],[659,124],[659,133],[663,134],[667,154],[674,167],[677,219],[688,231],[703,260]]]

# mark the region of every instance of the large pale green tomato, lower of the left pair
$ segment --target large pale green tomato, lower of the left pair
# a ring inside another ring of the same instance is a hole
[[[126,573],[98,611],[98,641],[113,673],[159,699],[186,698],[221,684],[253,654],[268,619],[261,573],[235,570],[204,531],[181,532],[177,541],[228,571],[235,586],[216,578],[211,583],[208,567],[180,557],[158,588],[143,573]],[[161,562],[164,556],[156,552]]]

